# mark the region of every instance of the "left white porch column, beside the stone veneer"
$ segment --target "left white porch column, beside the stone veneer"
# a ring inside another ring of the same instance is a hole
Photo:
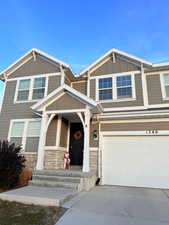
[[[44,155],[45,155],[45,142],[46,142],[46,126],[48,123],[48,115],[43,112],[42,121],[41,121],[41,131],[40,131],[40,140],[39,140],[39,147],[38,147],[38,157],[37,157],[37,170],[43,170],[44,167]]]

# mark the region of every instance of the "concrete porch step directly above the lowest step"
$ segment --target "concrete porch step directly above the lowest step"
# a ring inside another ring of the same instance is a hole
[[[80,183],[79,177],[67,177],[67,176],[34,175],[33,180],[46,180],[46,181],[55,181],[55,182]]]

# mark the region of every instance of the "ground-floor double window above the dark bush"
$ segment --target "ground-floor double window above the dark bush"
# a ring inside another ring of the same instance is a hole
[[[26,119],[12,121],[9,141],[16,146],[21,145],[23,151],[36,152],[39,145],[41,121]]]

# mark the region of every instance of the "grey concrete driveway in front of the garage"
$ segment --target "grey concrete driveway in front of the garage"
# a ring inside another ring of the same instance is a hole
[[[166,225],[169,191],[100,186],[81,194],[57,225]]]

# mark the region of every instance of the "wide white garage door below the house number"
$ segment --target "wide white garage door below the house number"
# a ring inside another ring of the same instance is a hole
[[[169,137],[103,137],[102,183],[169,188]]]

